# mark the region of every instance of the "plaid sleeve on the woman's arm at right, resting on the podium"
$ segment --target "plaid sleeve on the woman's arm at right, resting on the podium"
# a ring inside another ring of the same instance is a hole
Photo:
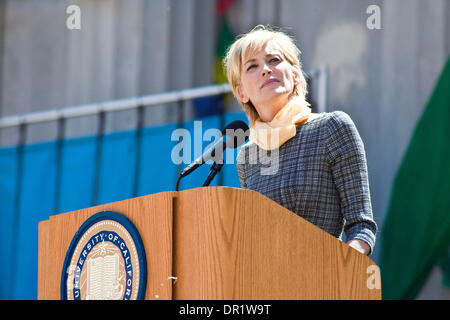
[[[327,155],[339,193],[347,240],[360,239],[373,252],[377,225],[372,215],[364,144],[351,118],[342,111],[328,121]]]

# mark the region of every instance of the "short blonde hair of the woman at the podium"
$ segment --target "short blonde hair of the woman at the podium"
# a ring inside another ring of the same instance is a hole
[[[297,70],[299,74],[299,83],[294,86],[292,94],[303,98],[306,105],[307,84],[303,76],[302,65],[300,63],[300,50],[297,48],[293,38],[283,31],[274,30],[271,27],[258,25],[248,33],[237,37],[237,40],[228,48],[225,59],[223,60],[224,69],[226,70],[228,82],[231,85],[234,96],[247,114],[250,124],[258,118],[258,113],[249,101],[243,103],[240,101],[236,88],[241,84],[242,63],[245,55],[254,56],[261,51],[269,42],[274,42],[280,49],[284,58]]]

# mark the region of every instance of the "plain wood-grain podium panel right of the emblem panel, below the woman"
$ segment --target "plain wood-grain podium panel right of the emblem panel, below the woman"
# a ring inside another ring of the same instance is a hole
[[[174,299],[380,299],[375,263],[259,193],[180,192]]]

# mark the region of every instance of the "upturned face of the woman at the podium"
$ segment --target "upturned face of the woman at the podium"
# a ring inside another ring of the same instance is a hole
[[[262,121],[271,121],[289,101],[299,75],[269,41],[255,56],[245,56],[237,93],[242,102],[252,102]]]

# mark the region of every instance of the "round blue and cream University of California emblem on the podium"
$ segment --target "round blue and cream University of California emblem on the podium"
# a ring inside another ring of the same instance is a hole
[[[112,211],[87,219],[67,250],[61,299],[143,299],[146,285],[145,250],[133,223]]]

